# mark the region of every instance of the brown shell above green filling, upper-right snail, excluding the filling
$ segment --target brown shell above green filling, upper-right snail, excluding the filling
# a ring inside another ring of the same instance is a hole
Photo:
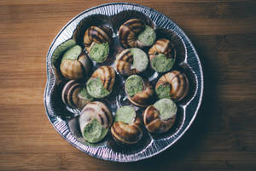
[[[157,54],[166,54],[167,58],[175,60],[177,53],[174,48],[174,44],[170,40],[161,38],[157,40],[151,48],[149,48],[149,60],[152,60]]]

